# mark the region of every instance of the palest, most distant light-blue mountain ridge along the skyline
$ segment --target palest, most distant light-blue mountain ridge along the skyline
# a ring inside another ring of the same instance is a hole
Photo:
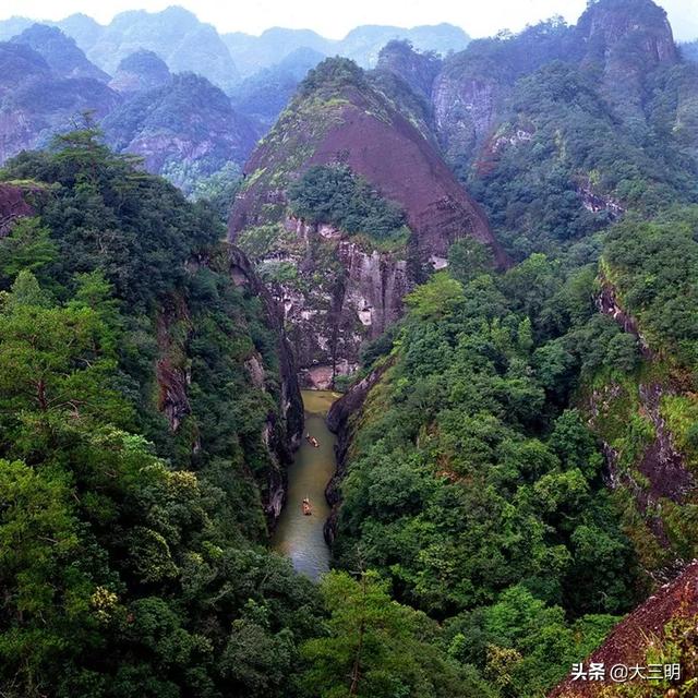
[[[0,40],[20,34],[34,22],[26,17],[0,21]],[[344,39],[328,39],[311,29],[272,27],[260,36],[241,32],[219,34],[189,10],[172,5],[161,12],[144,10],[117,14],[101,25],[85,14],[73,14],[58,26],[75,39],[87,58],[113,75],[121,60],[136,50],[157,53],[173,72],[195,72],[225,91],[262,69],[270,68],[298,49],[312,49],[323,57],[344,56],[362,68],[373,68],[381,48],[392,39],[410,40],[419,50],[440,53],[466,48],[470,38],[450,24],[401,28],[397,26],[358,26]]]

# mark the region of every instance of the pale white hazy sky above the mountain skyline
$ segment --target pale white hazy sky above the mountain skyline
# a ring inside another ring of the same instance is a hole
[[[414,26],[450,22],[471,36],[489,36],[502,28],[562,14],[574,22],[586,0],[0,0],[0,19],[14,14],[60,20],[84,12],[103,23],[123,10],[163,10],[181,4],[220,32],[258,34],[270,26],[308,27],[341,38],[358,24]],[[698,38],[698,0],[663,0],[660,4],[678,40]]]

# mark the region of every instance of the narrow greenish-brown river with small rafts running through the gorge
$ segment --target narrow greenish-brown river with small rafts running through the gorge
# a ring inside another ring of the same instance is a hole
[[[302,446],[288,470],[288,500],[276,526],[272,546],[291,558],[293,567],[317,579],[329,569],[329,549],[323,526],[329,516],[325,488],[335,473],[335,435],[325,417],[339,397],[329,390],[303,390],[305,432],[320,442],[313,447],[303,438]],[[313,513],[304,516],[302,502],[309,497]]]

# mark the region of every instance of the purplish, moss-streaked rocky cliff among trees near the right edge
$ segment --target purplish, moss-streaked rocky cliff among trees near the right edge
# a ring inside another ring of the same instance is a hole
[[[605,275],[597,306],[637,339],[643,365],[624,381],[595,382],[586,404],[589,425],[603,442],[606,483],[628,504],[626,527],[639,562],[663,582],[693,556],[677,520],[698,502],[698,483],[667,412],[677,396],[691,398],[693,388],[678,366],[650,347]]]

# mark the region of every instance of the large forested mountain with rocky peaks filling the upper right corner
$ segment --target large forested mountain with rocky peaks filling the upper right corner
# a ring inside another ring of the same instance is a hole
[[[541,23],[447,59],[435,129],[510,249],[525,255],[540,234],[551,251],[630,206],[657,210],[666,188],[691,201],[697,79],[663,10],[600,0],[577,25]]]

